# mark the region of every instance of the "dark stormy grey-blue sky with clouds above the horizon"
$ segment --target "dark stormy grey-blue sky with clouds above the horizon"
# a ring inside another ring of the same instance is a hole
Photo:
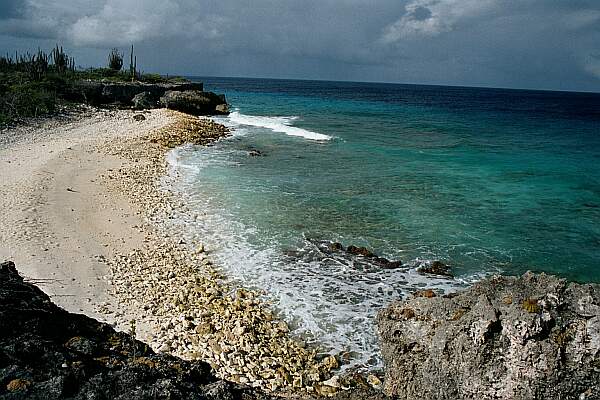
[[[600,0],[0,0],[0,51],[145,72],[600,92]],[[127,62],[126,62],[127,64]]]

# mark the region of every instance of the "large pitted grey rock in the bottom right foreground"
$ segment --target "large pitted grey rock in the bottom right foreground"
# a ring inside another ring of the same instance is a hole
[[[378,328],[389,395],[600,398],[600,285],[494,277],[394,303]]]

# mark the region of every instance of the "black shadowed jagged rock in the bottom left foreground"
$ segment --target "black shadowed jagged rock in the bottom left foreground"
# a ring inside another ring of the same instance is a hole
[[[155,354],[107,324],[70,314],[0,264],[0,398],[270,399],[218,380],[204,362]]]

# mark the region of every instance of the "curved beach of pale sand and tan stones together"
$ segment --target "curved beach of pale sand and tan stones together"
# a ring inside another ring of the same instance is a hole
[[[157,223],[182,207],[159,188],[166,152],[208,144],[226,128],[166,110],[133,115],[98,112],[2,147],[0,162],[16,168],[3,177],[11,196],[2,206],[15,212],[0,220],[0,257],[67,310],[135,330],[157,351],[207,361],[219,377],[336,392],[334,356],[318,359],[255,293],[223,284],[201,244]]]

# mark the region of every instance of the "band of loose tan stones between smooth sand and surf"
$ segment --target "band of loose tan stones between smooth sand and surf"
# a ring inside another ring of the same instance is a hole
[[[166,153],[184,143],[207,145],[228,134],[208,119],[173,113],[175,122],[146,137],[116,140],[99,150],[130,160],[104,176],[108,190],[128,196],[148,224],[144,248],[107,260],[108,278],[118,307],[132,310],[151,327],[156,351],[209,362],[216,375],[268,391],[330,395],[342,387],[371,386],[374,375],[334,377],[335,355],[318,356],[289,335],[257,293],[224,283],[201,243],[184,243],[160,221],[181,212],[183,204],[165,192]],[[102,312],[108,312],[108,305]],[[126,321],[120,321],[122,324]],[[332,379],[333,378],[333,379]]]

